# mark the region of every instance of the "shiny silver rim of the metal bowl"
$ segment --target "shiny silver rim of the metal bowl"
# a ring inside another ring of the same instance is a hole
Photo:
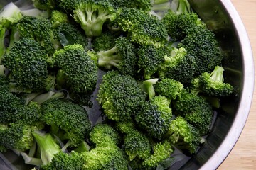
[[[220,0],[220,3],[223,5],[230,20],[233,22],[235,28],[235,33],[238,36],[238,40],[241,47],[242,57],[242,93],[240,97],[240,103],[238,106],[238,111],[235,115],[228,134],[226,135],[223,142],[220,144],[215,153],[208,159],[208,161],[201,166],[200,169],[217,169],[225,158],[228,157],[228,154],[231,152],[235,143],[238,141],[245,123],[247,121],[248,115],[250,113],[250,107],[252,105],[252,96],[254,91],[254,63],[252,55],[252,47],[250,45],[250,40],[247,35],[242,19],[240,18],[238,11],[236,11],[235,6],[231,1]]]

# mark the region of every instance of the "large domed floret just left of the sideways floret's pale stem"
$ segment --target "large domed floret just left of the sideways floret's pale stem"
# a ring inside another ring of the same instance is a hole
[[[63,70],[66,84],[75,93],[88,93],[95,89],[97,82],[97,65],[85,52],[82,45],[66,45],[64,49],[56,50],[53,59]]]

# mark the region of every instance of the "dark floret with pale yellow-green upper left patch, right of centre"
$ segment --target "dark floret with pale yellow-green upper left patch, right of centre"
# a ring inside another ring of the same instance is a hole
[[[196,67],[195,58],[188,55],[186,48],[174,48],[169,55],[164,56],[158,74],[161,79],[174,79],[186,85],[193,79]]]

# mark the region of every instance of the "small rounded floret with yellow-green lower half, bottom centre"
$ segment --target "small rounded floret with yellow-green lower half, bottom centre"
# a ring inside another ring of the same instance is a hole
[[[121,137],[117,130],[111,125],[100,123],[95,125],[90,132],[90,141],[96,145],[96,147],[108,147],[110,143],[119,145]]]

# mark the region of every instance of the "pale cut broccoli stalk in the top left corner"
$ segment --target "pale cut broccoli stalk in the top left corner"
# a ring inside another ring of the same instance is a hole
[[[6,32],[21,18],[21,10],[13,3],[4,6],[0,12],[0,64],[6,52]]]

